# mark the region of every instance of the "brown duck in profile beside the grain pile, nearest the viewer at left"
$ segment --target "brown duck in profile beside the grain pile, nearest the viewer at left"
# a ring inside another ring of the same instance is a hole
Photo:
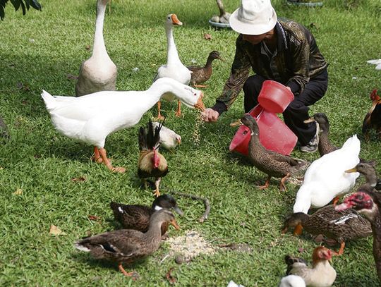
[[[133,229],[119,229],[75,241],[74,246],[78,250],[90,252],[95,259],[118,263],[123,275],[132,276],[133,272],[127,273],[122,263],[131,264],[155,252],[162,242],[161,230],[164,222],[180,229],[174,214],[168,209],[162,209],[152,214],[150,227],[146,233]]]

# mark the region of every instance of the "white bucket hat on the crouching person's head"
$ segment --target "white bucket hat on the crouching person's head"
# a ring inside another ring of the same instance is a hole
[[[270,0],[241,0],[241,6],[229,18],[230,27],[241,34],[261,35],[277,23]]]

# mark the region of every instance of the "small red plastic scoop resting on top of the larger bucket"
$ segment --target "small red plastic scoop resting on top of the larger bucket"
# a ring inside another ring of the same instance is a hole
[[[281,114],[294,99],[294,94],[281,83],[265,80],[258,95],[258,102],[267,111]]]

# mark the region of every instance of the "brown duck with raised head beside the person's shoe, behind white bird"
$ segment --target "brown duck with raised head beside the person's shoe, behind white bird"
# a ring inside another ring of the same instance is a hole
[[[313,121],[316,121],[319,124],[320,135],[318,149],[320,157],[338,149],[338,147],[335,147],[329,141],[329,121],[327,116],[324,113],[317,113],[304,121],[304,123],[311,123]]]

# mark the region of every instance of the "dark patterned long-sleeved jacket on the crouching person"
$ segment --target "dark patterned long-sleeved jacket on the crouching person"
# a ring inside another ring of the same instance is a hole
[[[303,92],[310,78],[327,68],[309,30],[292,20],[278,20],[275,30],[277,49],[273,53],[263,42],[253,45],[238,36],[229,79],[212,109],[219,114],[229,109],[248,78],[250,67],[256,74],[290,87],[295,96]]]

